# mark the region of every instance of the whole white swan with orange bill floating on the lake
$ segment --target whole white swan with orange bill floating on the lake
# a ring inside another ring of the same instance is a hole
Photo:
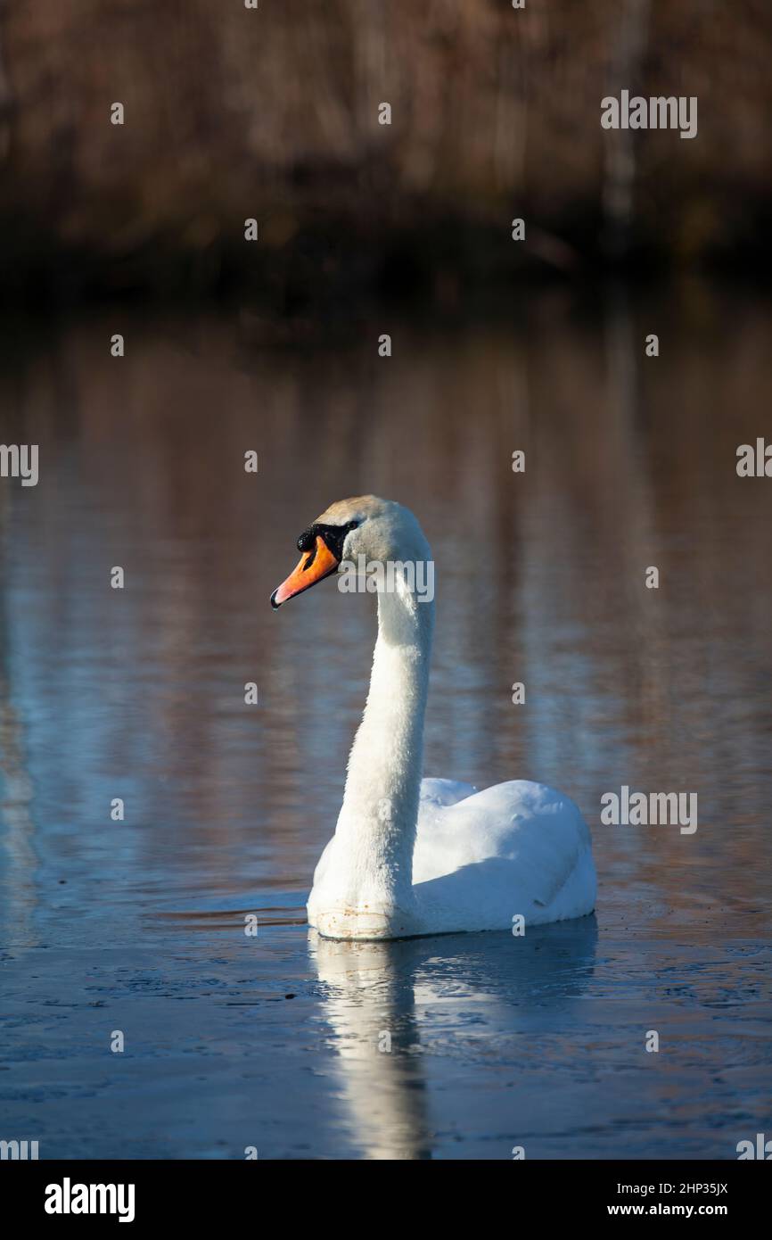
[[[421,779],[434,629],[431,551],[409,508],[374,495],[331,505],[297,539],[271,606],[352,564],[372,570],[378,640],[335,835],[314,874],[309,923],[327,939],[519,929],[595,908],[587,826],[543,784]],[[390,572],[388,572],[390,569]],[[368,582],[368,588],[369,588]]]

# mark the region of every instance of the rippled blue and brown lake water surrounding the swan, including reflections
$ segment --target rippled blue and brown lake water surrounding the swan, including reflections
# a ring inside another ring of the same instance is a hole
[[[0,481],[0,1137],[675,1159],[770,1132],[772,481],[735,463],[772,440],[771,330],[689,284],[301,345],[249,314],[4,334],[1,438],[40,445],[40,482]],[[309,931],[374,603],[269,595],[366,491],[434,549],[426,774],[572,796],[595,916]],[[696,832],[602,825],[622,785],[698,794]]]

